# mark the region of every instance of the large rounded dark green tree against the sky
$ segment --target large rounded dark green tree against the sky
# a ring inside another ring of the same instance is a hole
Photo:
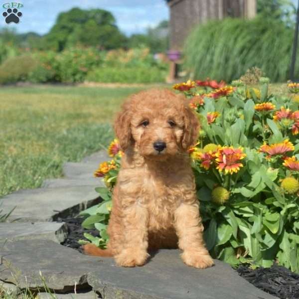
[[[58,51],[77,44],[113,49],[123,47],[127,42],[111,12],[76,7],[60,13],[45,38],[48,47]]]

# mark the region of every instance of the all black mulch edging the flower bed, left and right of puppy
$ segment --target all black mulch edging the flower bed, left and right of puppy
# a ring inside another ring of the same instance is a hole
[[[68,236],[62,245],[80,250],[78,240],[85,240],[84,233],[99,236],[96,229],[84,229],[81,226],[84,218],[59,219],[68,228]],[[299,275],[285,267],[273,265],[271,268],[250,269],[246,265],[239,266],[237,272],[255,287],[281,299],[299,299]]]

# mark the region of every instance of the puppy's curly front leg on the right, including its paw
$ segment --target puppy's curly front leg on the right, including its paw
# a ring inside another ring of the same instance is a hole
[[[176,209],[175,229],[178,247],[183,250],[181,258],[186,265],[201,269],[214,265],[204,245],[198,204],[182,203]]]

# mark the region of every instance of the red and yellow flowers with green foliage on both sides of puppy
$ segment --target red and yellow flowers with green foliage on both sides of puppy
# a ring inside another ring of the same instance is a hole
[[[189,152],[211,255],[233,266],[277,262],[299,272],[299,84],[275,96],[268,95],[268,81],[261,78],[259,88],[213,80],[173,88],[185,94],[201,123]],[[85,237],[102,248],[123,155],[117,140],[109,153],[113,160],[95,172],[107,185],[97,188],[104,201],[82,213],[88,215],[83,226],[101,235]]]

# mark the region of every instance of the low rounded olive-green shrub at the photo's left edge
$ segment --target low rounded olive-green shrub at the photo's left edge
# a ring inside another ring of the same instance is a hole
[[[24,54],[6,59],[0,65],[0,84],[27,80],[29,73],[36,66],[31,54]]]

